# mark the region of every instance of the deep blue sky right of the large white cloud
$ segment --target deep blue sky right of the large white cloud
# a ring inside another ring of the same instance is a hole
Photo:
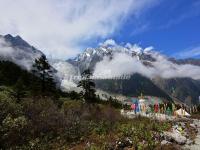
[[[153,46],[169,56],[200,58],[200,1],[164,0],[137,20],[129,16],[110,38]],[[197,54],[192,53],[195,48]]]

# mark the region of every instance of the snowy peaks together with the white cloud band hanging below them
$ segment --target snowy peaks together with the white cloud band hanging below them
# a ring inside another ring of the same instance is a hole
[[[89,68],[95,76],[103,78],[139,73],[150,79],[156,77],[200,79],[199,66],[175,63],[154,50],[152,46],[142,48],[137,44],[117,44],[114,40],[107,40],[97,48],[87,48],[68,62],[78,67],[80,72]]]

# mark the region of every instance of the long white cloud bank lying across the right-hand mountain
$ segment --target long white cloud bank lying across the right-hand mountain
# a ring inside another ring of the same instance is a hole
[[[111,41],[111,40],[110,40]],[[114,41],[112,41],[114,43]],[[116,43],[115,43],[116,44]],[[117,46],[120,48],[119,46]],[[119,77],[127,74],[139,73],[148,78],[192,78],[200,79],[200,67],[190,64],[178,65],[167,59],[164,55],[153,50],[153,47],[145,49],[138,45],[128,44],[129,50],[150,55],[156,61],[147,61],[150,65],[145,65],[144,60],[138,59],[138,56],[132,57],[126,53],[114,53],[113,58],[104,57],[102,61],[96,64],[94,76],[99,78]],[[122,47],[121,47],[122,48]],[[125,47],[123,47],[126,49]],[[140,54],[139,54],[140,55]]]

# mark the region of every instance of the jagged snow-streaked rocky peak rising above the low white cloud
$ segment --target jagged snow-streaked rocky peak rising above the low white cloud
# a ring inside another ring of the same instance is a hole
[[[69,63],[80,69],[80,72],[89,68],[94,71],[95,65],[102,61],[105,57],[110,60],[115,54],[126,54],[140,60],[142,63],[148,65],[148,62],[155,61],[152,57],[152,47],[142,49],[138,45],[126,44],[125,46],[115,44],[101,44],[97,48],[87,48],[83,53],[79,54],[74,59],[67,60]]]

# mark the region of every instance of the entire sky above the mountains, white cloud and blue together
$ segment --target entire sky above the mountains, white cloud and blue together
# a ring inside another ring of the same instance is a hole
[[[200,0],[0,0],[0,34],[67,59],[107,39],[200,58]]]

